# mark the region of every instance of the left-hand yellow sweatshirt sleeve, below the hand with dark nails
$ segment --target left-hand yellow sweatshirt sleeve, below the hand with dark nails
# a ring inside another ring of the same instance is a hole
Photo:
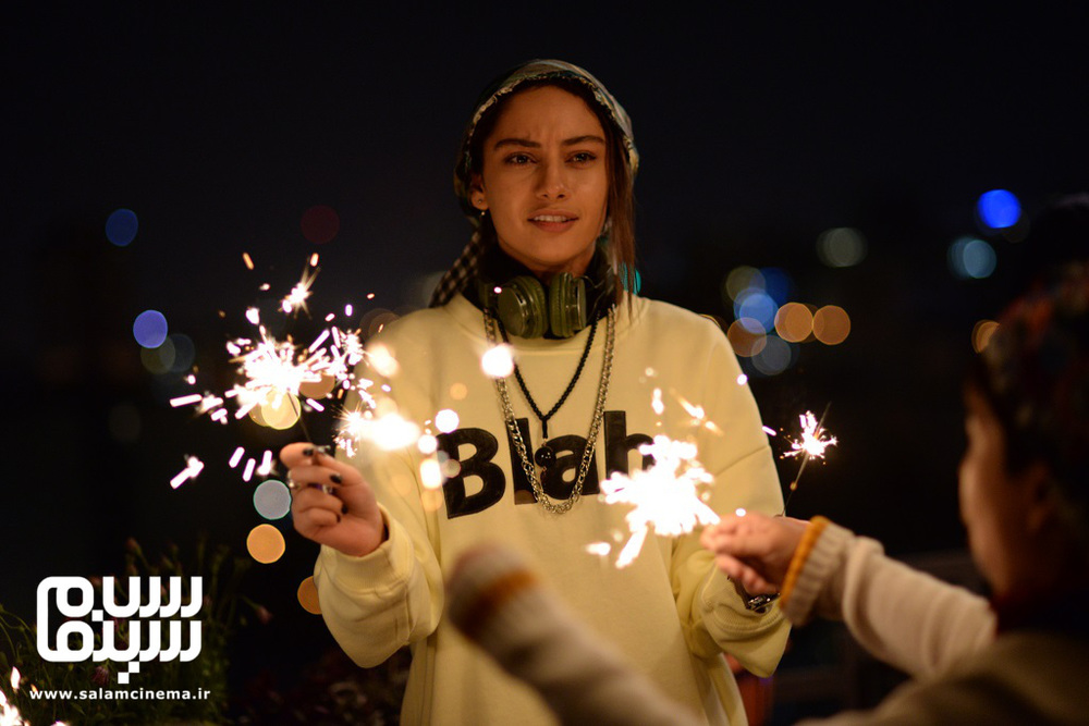
[[[382,414],[411,419],[413,382],[399,377],[399,394],[379,402]],[[351,402],[350,402],[351,404]],[[384,452],[360,445],[355,456],[339,456],[360,470],[375,489],[389,539],[362,557],[322,546],[314,569],[321,615],[330,632],[356,664],[371,667],[404,645],[430,636],[443,607],[442,573],[433,542],[433,513],[424,506],[419,460],[412,451]]]

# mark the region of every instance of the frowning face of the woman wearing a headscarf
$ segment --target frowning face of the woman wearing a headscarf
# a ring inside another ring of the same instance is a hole
[[[472,201],[499,246],[542,279],[582,275],[605,221],[605,133],[586,102],[554,86],[517,93],[484,143]]]

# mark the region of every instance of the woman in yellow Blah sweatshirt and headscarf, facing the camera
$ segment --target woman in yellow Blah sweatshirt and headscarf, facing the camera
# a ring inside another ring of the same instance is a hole
[[[747,607],[697,536],[648,541],[623,569],[587,552],[626,529],[626,512],[594,496],[598,482],[650,465],[638,447],[658,433],[696,441],[715,477],[712,508],[782,508],[725,336],[625,292],[637,164],[626,113],[586,71],[534,61],[493,84],[455,171],[476,233],[435,306],[371,342],[382,376],[366,371],[389,386],[381,415],[427,427],[441,410],[456,413],[456,428],[436,436],[446,478],[421,477],[415,447],[346,460],[304,444],[281,454],[295,482],[317,484],[296,490],[292,512],[296,529],[323,545],[315,579],[333,636],[363,666],[412,645],[405,723],[554,721],[442,616],[443,575],[484,540],[518,551],[701,721],[744,723],[724,651],[760,675],[778,664],[787,632],[778,611]],[[492,379],[480,358],[503,340],[515,374]]]

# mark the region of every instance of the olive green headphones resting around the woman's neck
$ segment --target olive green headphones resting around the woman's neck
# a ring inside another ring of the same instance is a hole
[[[554,275],[544,285],[533,275],[518,275],[502,285],[480,282],[480,298],[489,300],[503,327],[518,337],[541,337],[551,332],[571,337],[586,328],[586,281],[570,272]]]

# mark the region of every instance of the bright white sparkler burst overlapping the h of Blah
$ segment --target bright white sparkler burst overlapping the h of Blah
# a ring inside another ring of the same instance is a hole
[[[695,444],[657,435],[653,443],[639,446],[639,453],[654,458],[649,469],[636,470],[631,476],[613,472],[599,484],[600,497],[607,504],[634,507],[625,517],[632,537],[616,557],[620,568],[638,556],[651,528],[656,534],[676,537],[690,532],[697,525],[719,521],[698,491],[701,484],[711,483],[713,477],[696,460]]]

